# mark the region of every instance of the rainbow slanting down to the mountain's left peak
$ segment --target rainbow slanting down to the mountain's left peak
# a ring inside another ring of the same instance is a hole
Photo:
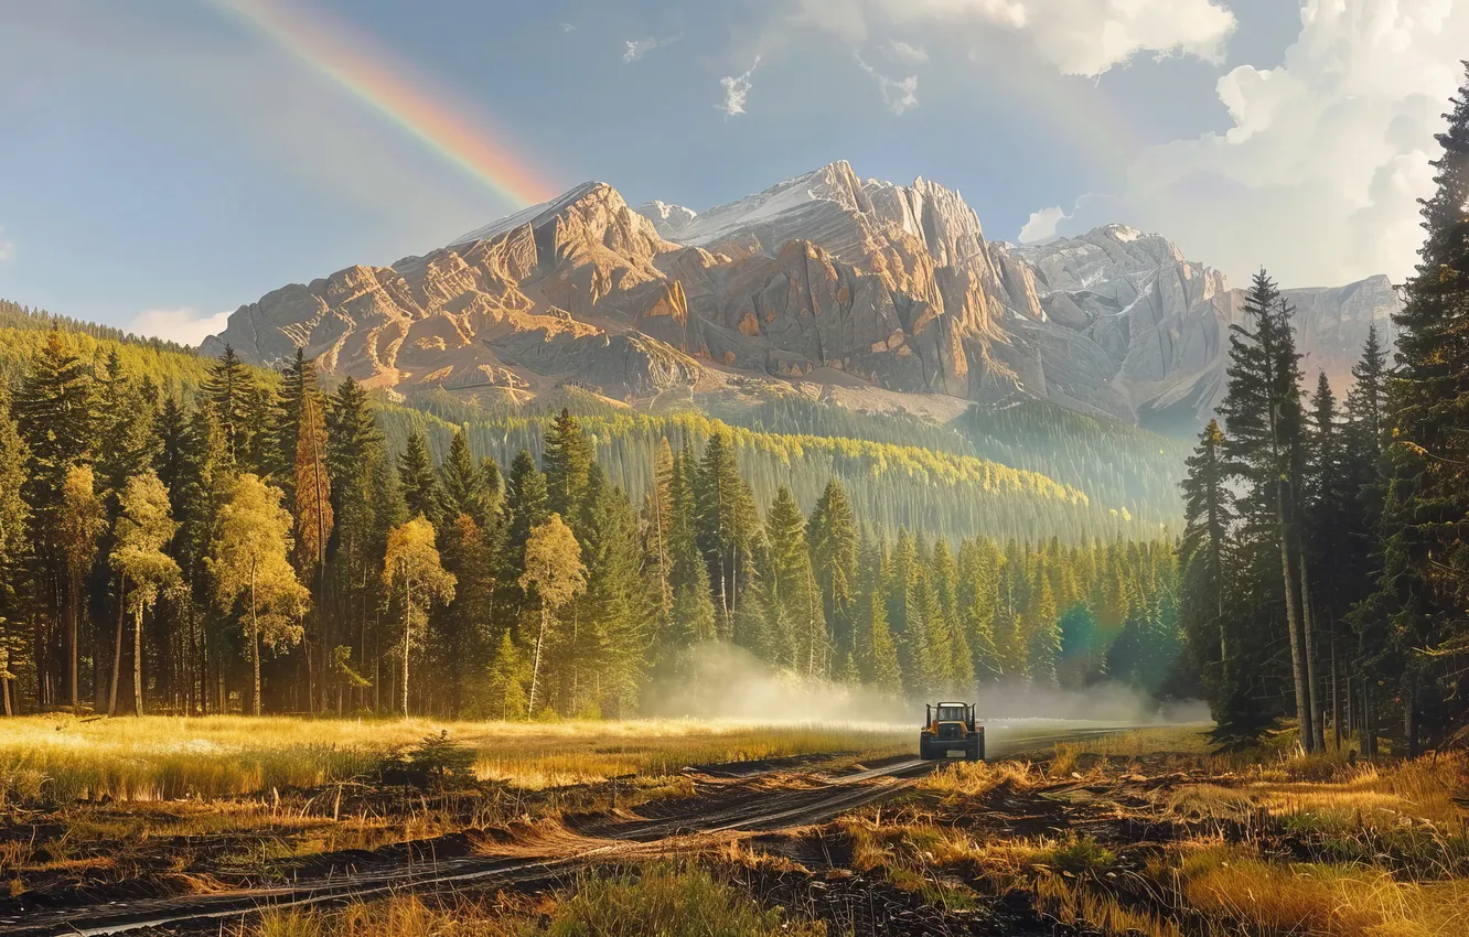
[[[276,0],[214,0],[516,209],[557,195],[461,109],[347,23]]]

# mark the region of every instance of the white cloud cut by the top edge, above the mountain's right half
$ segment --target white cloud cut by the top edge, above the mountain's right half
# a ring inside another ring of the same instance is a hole
[[[1384,6],[1413,0],[1379,0]],[[873,21],[975,23],[1021,32],[1068,75],[1096,76],[1138,53],[1219,60],[1234,13],[1219,0],[795,0],[798,18],[858,44]]]

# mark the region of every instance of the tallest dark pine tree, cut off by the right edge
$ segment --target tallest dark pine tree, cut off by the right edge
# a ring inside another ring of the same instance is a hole
[[[1422,203],[1428,236],[1394,317],[1382,571],[1354,612],[1371,667],[1400,684],[1409,756],[1423,695],[1457,680],[1469,649],[1469,82],[1451,103],[1438,188]]]

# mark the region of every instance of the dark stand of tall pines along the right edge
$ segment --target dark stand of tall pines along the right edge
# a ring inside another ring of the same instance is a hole
[[[1371,332],[1341,407],[1309,399],[1262,272],[1231,339],[1224,424],[1188,463],[1183,620],[1221,733],[1294,715],[1406,753],[1469,715],[1469,88],[1448,129],[1390,366]]]

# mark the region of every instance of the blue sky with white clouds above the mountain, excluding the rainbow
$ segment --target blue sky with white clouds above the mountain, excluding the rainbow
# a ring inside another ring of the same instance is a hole
[[[520,207],[228,9],[259,1],[0,0],[0,297],[197,341]],[[702,210],[846,159],[990,238],[1118,220],[1288,285],[1407,272],[1469,48],[1465,0],[270,3],[557,189]]]

